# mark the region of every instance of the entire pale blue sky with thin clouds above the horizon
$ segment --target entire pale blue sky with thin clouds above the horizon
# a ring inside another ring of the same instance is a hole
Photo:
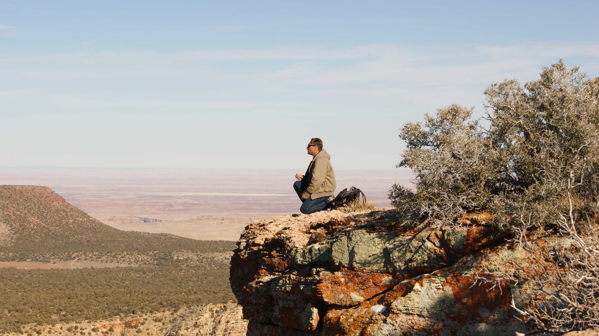
[[[2,1],[0,167],[392,169],[398,129],[563,58],[597,1]]]

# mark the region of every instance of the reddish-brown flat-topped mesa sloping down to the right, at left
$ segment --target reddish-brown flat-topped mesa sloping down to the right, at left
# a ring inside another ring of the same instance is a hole
[[[50,262],[84,256],[156,264],[173,259],[176,251],[226,253],[234,246],[227,241],[120,231],[68,204],[48,187],[0,186],[0,223],[8,229],[0,241],[0,261]]]

